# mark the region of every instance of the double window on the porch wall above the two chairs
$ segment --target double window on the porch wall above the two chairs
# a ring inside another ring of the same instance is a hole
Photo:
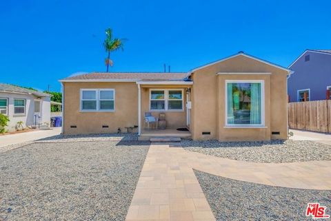
[[[151,111],[183,110],[183,90],[150,90]]]

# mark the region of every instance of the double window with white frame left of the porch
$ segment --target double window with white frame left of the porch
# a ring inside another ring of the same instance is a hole
[[[114,111],[113,89],[82,89],[81,90],[81,111]]]

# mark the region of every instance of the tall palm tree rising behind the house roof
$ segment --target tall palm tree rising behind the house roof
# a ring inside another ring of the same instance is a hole
[[[123,51],[123,41],[125,39],[113,39],[112,38],[112,29],[106,29],[106,39],[103,41],[103,47],[105,47],[106,52],[108,52],[107,59],[105,63],[107,65],[107,72],[109,69],[109,65],[112,66],[112,60],[110,60],[110,52],[117,51],[121,49]]]

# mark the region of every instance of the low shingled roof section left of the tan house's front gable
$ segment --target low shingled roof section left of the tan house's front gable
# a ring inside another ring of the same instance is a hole
[[[137,82],[137,81],[184,81],[185,72],[92,72],[63,78],[61,82],[107,81],[107,82]]]

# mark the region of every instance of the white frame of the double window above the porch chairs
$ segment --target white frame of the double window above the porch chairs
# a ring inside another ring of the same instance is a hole
[[[163,91],[164,99],[152,99],[152,91]],[[181,91],[181,99],[169,99],[169,91]],[[150,89],[148,109],[150,112],[183,112],[184,111],[184,90],[183,88],[153,88]],[[151,101],[164,101],[165,109],[151,109]],[[181,109],[168,109],[169,101],[181,101]]]

